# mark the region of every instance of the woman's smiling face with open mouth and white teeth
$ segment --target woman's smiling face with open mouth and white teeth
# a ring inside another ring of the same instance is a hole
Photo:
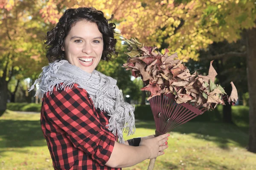
[[[86,20],[77,22],[65,38],[62,50],[70,64],[92,73],[103,51],[103,37],[97,24]]]

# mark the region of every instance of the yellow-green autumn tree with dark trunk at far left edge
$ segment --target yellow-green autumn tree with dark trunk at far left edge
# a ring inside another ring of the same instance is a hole
[[[6,0],[0,3],[0,115],[6,110],[8,83],[35,77],[45,60],[42,37],[47,24],[38,11],[41,1]]]

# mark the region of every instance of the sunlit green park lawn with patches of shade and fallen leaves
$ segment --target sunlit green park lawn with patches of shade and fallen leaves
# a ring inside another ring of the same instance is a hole
[[[154,170],[256,170],[256,154],[246,150],[247,122],[234,111],[236,125],[187,122],[172,132]],[[152,121],[138,121],[134,136],[154,133]],[[6,111],[0,117],[0,170],[52,170],[40,127],[40,113]],[[123,170],[146,170],[149,160]]]

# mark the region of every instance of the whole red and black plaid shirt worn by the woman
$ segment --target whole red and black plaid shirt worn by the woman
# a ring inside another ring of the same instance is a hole
[[[83,88],[53,89],[44,95],[41,128],[55,170],[121,170],[105,163],[117,136],[108,130],[109,116],[94,108]]]

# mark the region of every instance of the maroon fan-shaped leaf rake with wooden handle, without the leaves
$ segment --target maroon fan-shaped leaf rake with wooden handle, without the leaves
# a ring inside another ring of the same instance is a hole
[[[149,91],[146,93],[150,96]],[[202,106],[195,107],[189,103],[177,104],[175,95],[171,93],[154,96],[149,99],[149,103],[156,125],[156,136],[165,134],[207,111]],[[156,158],[150,159],[148,170],[153,170],[155,161]]]

